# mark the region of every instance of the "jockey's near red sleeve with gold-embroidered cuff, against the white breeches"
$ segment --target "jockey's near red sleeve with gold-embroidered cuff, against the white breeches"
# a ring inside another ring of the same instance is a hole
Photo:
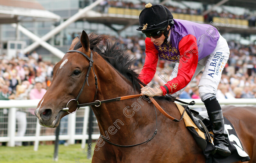
[[[167,93],[175,93],[186,87],[194,75],[198,63],[197,40],[193,35],[184,36],[179,42],[180,63],[178,73],[175,78],[168,81],[165,86],[168,87],[169,92],[165,87],[160,88],[163,95]]]

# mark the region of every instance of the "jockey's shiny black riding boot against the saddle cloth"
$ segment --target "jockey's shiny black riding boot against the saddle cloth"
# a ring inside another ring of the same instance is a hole
[[[224,157],[231,155],[229,151],[229,144],[226,141],[228,135],[224,129],[224,119],[222,110],[216,97],[211,97],[204,100],[205,107],[208,112],[208,116],[211,122],[212,131],[214,134],[214,145],[217,149],[217,153]]]

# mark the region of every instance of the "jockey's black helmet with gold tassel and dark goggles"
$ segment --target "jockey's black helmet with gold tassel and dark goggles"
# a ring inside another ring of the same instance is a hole
[[[168,25],[174,24],[172,13],[163,5],[148,3],[140,12],[139,16],[140,27],[137,29],[144,33],[147,37],[153,36],[159,38],[162,33],[165,36],[164,43],[167,42],[169,30]]]

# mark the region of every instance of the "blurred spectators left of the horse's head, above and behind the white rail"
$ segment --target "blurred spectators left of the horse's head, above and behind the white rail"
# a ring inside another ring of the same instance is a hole
[[[52,80],[53,64],[44,62],[42,56],[35,51],[31,54],[19,52],[13,59],[1,54],[0,68],[0,100],[41,99]],[[16,108],[16,136],[35,132],[27,130],[27,128],[35,128],[36,118],[27,122],[27,117],[34,117],[34,110],[35,108]],[[7,115],[7,109],[0,109],[0,136],[6,134]],[[52,131],[46,130],[45,133],[47,132]],[[2,145],[5,144],[5,142],[2,143]],[[23,142],[23,145],[26,144],[28,145],[28,142]],[[21,146],[22,142],[15,142],[15,145]]]

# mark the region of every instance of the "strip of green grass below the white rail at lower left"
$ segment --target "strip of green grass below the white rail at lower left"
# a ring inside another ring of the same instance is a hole
[[[59,145],[58,161],[53,161],[54,145],[40,145],[38,151],[34,146],[5,147],[0,146],[1,163],[91,163],[83,153],[81,144]]]

